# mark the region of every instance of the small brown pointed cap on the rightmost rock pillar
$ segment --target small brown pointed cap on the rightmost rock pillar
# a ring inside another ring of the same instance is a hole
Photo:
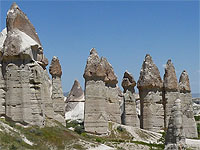
[[[189,76],[185,70],[181,73],[179,79],[179,90],[181,92],[191,92]]]

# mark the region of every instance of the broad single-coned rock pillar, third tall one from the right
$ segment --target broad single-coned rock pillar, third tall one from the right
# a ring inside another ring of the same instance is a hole
[[[163,83],[157,66],[148,54],[143,62],[137,87],[140,95],[140,127],[158,132],[164,127]]]

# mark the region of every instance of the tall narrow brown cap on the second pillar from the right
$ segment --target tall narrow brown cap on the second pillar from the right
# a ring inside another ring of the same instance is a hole
[[[171,59],[167,61],[167,64],[165,66],[163,82],[163,86],[165,89],[178,91],[178,81],[176,77],[175,68],[173,63],[171,62]]]

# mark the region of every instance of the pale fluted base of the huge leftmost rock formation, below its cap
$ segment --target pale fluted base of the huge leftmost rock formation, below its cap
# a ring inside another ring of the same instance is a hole
[[[6,117],[16,122],[45,125],[53,119],[48,73],[38,63],[6,66]]]

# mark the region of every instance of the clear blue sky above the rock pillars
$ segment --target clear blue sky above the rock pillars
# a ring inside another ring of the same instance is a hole
[[[1,1],[0,28],[12,1]],[[119,86],[125,70],[137,81],[149,53],[161,77],[172,59],[177,78],[189,73],[192,93],[200,93],[198,1],[17,1],[38,32],[49,62],[58,56],[65,92],[75,79],[84,86],[89,50],[112,64]],[[83,87],[84,88],[84,87]]]

